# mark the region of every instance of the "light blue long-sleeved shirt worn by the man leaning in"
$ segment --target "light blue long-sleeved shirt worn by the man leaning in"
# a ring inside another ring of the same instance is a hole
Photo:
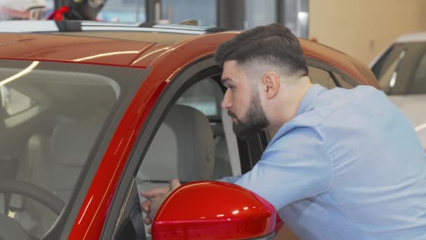
[[[312,86],[252,171],[223,180],[263,196],[301,239],[426,239],[425,150],[370,86]]]

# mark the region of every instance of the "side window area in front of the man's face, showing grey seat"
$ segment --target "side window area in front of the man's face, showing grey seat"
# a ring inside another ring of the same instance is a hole
[[[139,191],[167,186],[172,178],[218,180],[241,171],[231,164],[238,161],[240,167],[230,154],[238,154],[238,146],[230,147],[236,137],[231,118],[219,108],[223,98],[219,83],[210,78],[181,93],[142,159],[135,176]]]

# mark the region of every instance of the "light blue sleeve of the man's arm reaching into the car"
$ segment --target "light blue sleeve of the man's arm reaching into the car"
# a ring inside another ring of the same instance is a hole
[[[234,183],[259,194],[278,211],[325,192],[331,174],[324,139],[314,128],[303,126],[275,136],[252,171]]]

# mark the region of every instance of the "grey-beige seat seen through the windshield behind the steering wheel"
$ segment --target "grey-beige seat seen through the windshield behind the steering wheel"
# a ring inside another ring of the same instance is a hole
[[[58,124],[51,138],[32,135],[20,160],[17,179],[43,187],[65,203],[88,158],[100,126],[95,122]],[[25,196],[13,194],[9,206],[15,219],[34,236],[43,236],[57,215]]]

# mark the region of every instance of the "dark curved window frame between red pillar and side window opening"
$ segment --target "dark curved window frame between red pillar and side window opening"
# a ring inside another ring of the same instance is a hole
[[[107,214],[107,220],[104,222],[101,239],[111,239],[114,231],[119,227],[119,213],[123,204],[125,204],[125,193],[132,184],[132,179],[134,179],[137,170],[142,165],[142,160],[149,149],[149,145],[173,103],[184,92],[184,89],[188,89],[188,87],[192,86],[196,81],[217,74],[221,74],[221,69],[219,69],[214,59],[210,56],[209,58],[198,60],[198,62],[182,70],[181,73],[166,86],[160,98],[158,98],[156,104],[153,106],[142,130],[138,133],[135,145],[132,146],[132,154],[130,154],[125,169],[123,169],[116,194],[114,194],[111,207]]]

